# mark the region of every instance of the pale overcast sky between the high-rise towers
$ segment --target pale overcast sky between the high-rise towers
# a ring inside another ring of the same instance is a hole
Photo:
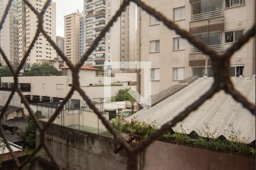
[[[64,16],[84,10],[84,0],[53,0],[56,2],[56,36],[64,37]]]

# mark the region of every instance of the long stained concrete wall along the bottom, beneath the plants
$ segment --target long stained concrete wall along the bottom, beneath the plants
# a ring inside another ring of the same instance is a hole
[[[38,135],[39,131],[37,140]],[[47,145],[64,169],[126,169],[125,151],[114,154],[113,139],[108,137],[52,125],[47,133]],[[46,155],[41,157],[49,160]],[[161,141],[152,143],[139,154],[138,160],[138,169],[255,169],[254,157]]]

